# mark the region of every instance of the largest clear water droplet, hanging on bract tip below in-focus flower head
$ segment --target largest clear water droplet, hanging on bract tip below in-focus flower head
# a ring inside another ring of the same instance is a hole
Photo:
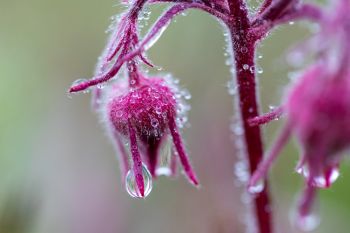
[[[152,175],[144,164],[142,164],[142,176],[143,176],[143,183],[145,188],[144,196],[141,195],[139,188],[137,187],[134,170],[130,169],[126,174],[125,189],[131,197],[145,198],[151,193]]]

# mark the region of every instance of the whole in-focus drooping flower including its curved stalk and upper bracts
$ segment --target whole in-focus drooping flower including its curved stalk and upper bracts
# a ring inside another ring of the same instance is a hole
[[[152,1],[130,1],[125,12],[113,17],[116,25],[111,25],[113,30],[95,76],[73,83],[69,90],[93,91],[93,108],[102,115],[118,151],[125,187],[131,196],[139,198],[150,193],[153,177],[175,174],[178,158],[190,182],[198,185],[179,130],[188,110],[182,97],[186,99],[189,94],[170,78],[144,76],[141,63],[153,67],[145,51],[177,14],[189,8],[211,9],[196,3],[175,4],[140,40],[138,24],[149,16],[144,9],[149,3]],[[170,138],[174,149],[169,146]]]

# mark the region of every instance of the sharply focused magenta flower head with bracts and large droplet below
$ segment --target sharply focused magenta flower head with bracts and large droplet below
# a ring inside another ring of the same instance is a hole
[[[187,108],[180,99],[181,93],[174,83],[169,83],[170,78],[166,81],[160,77],[137,75],[138,83],[131,88],[125,79],[114,83],[106,91],[106,103],[102,107],[107,129],[121,156],[122,175],[126,177],[128,192],[135,197],[147,196],[150,190],[145,186],[150,175],[174,174],[175,154],[189,180],[197,186],[198,180],[177,126],[185,120],[183,113]],[[169,167],[159,167],[160,157],[169,156],[169,151],[165,155],[161,155],[160,151],[161,147],[167,146],[168,137],[172,138],[175,151],[170,152],[170,158],[165,158]],[[132,163],[125,145],[130,150]],[[132,182],[135,186],[130,187]]]

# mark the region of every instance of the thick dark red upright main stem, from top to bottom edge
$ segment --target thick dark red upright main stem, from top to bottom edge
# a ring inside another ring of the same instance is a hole
[[[256,96],[255,43],[249,37],[250,22],[246,6],[242,0],[230,1],[230,11],[237,20],[229,25],[232,38],[232,48],[236,65],[236,79],[239,92],[239,110],[244,128],[244,140],[249,161],[250,174],[257,169],[263,158],[263,144],[259,126],[250,126],[249,119],[258,116],[258,101]],[[272,233],[271,206],[269,186],[265,180],[264,190],[253,197],[255,215],[259,233]]]

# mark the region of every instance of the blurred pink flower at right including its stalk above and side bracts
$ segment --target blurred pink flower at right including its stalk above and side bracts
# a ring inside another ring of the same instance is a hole
[[[283,110],[286,124],[266,159],[250,180],[250,188],[259,184],[293,133],[301,145],[296,171],[305,177],[305,189],[298,204],[297,224],[310,228],[316,189],[329,188],[339,176],[339,163],[350,148],[350,17],[348,1],[340,1],[323,18],[322,32],[315,38],[318,62],[308,68],[290,88]],[[276,114],[277,116],[278,114]],[[256,117],[252,124],[267,123],[268,116]]]

